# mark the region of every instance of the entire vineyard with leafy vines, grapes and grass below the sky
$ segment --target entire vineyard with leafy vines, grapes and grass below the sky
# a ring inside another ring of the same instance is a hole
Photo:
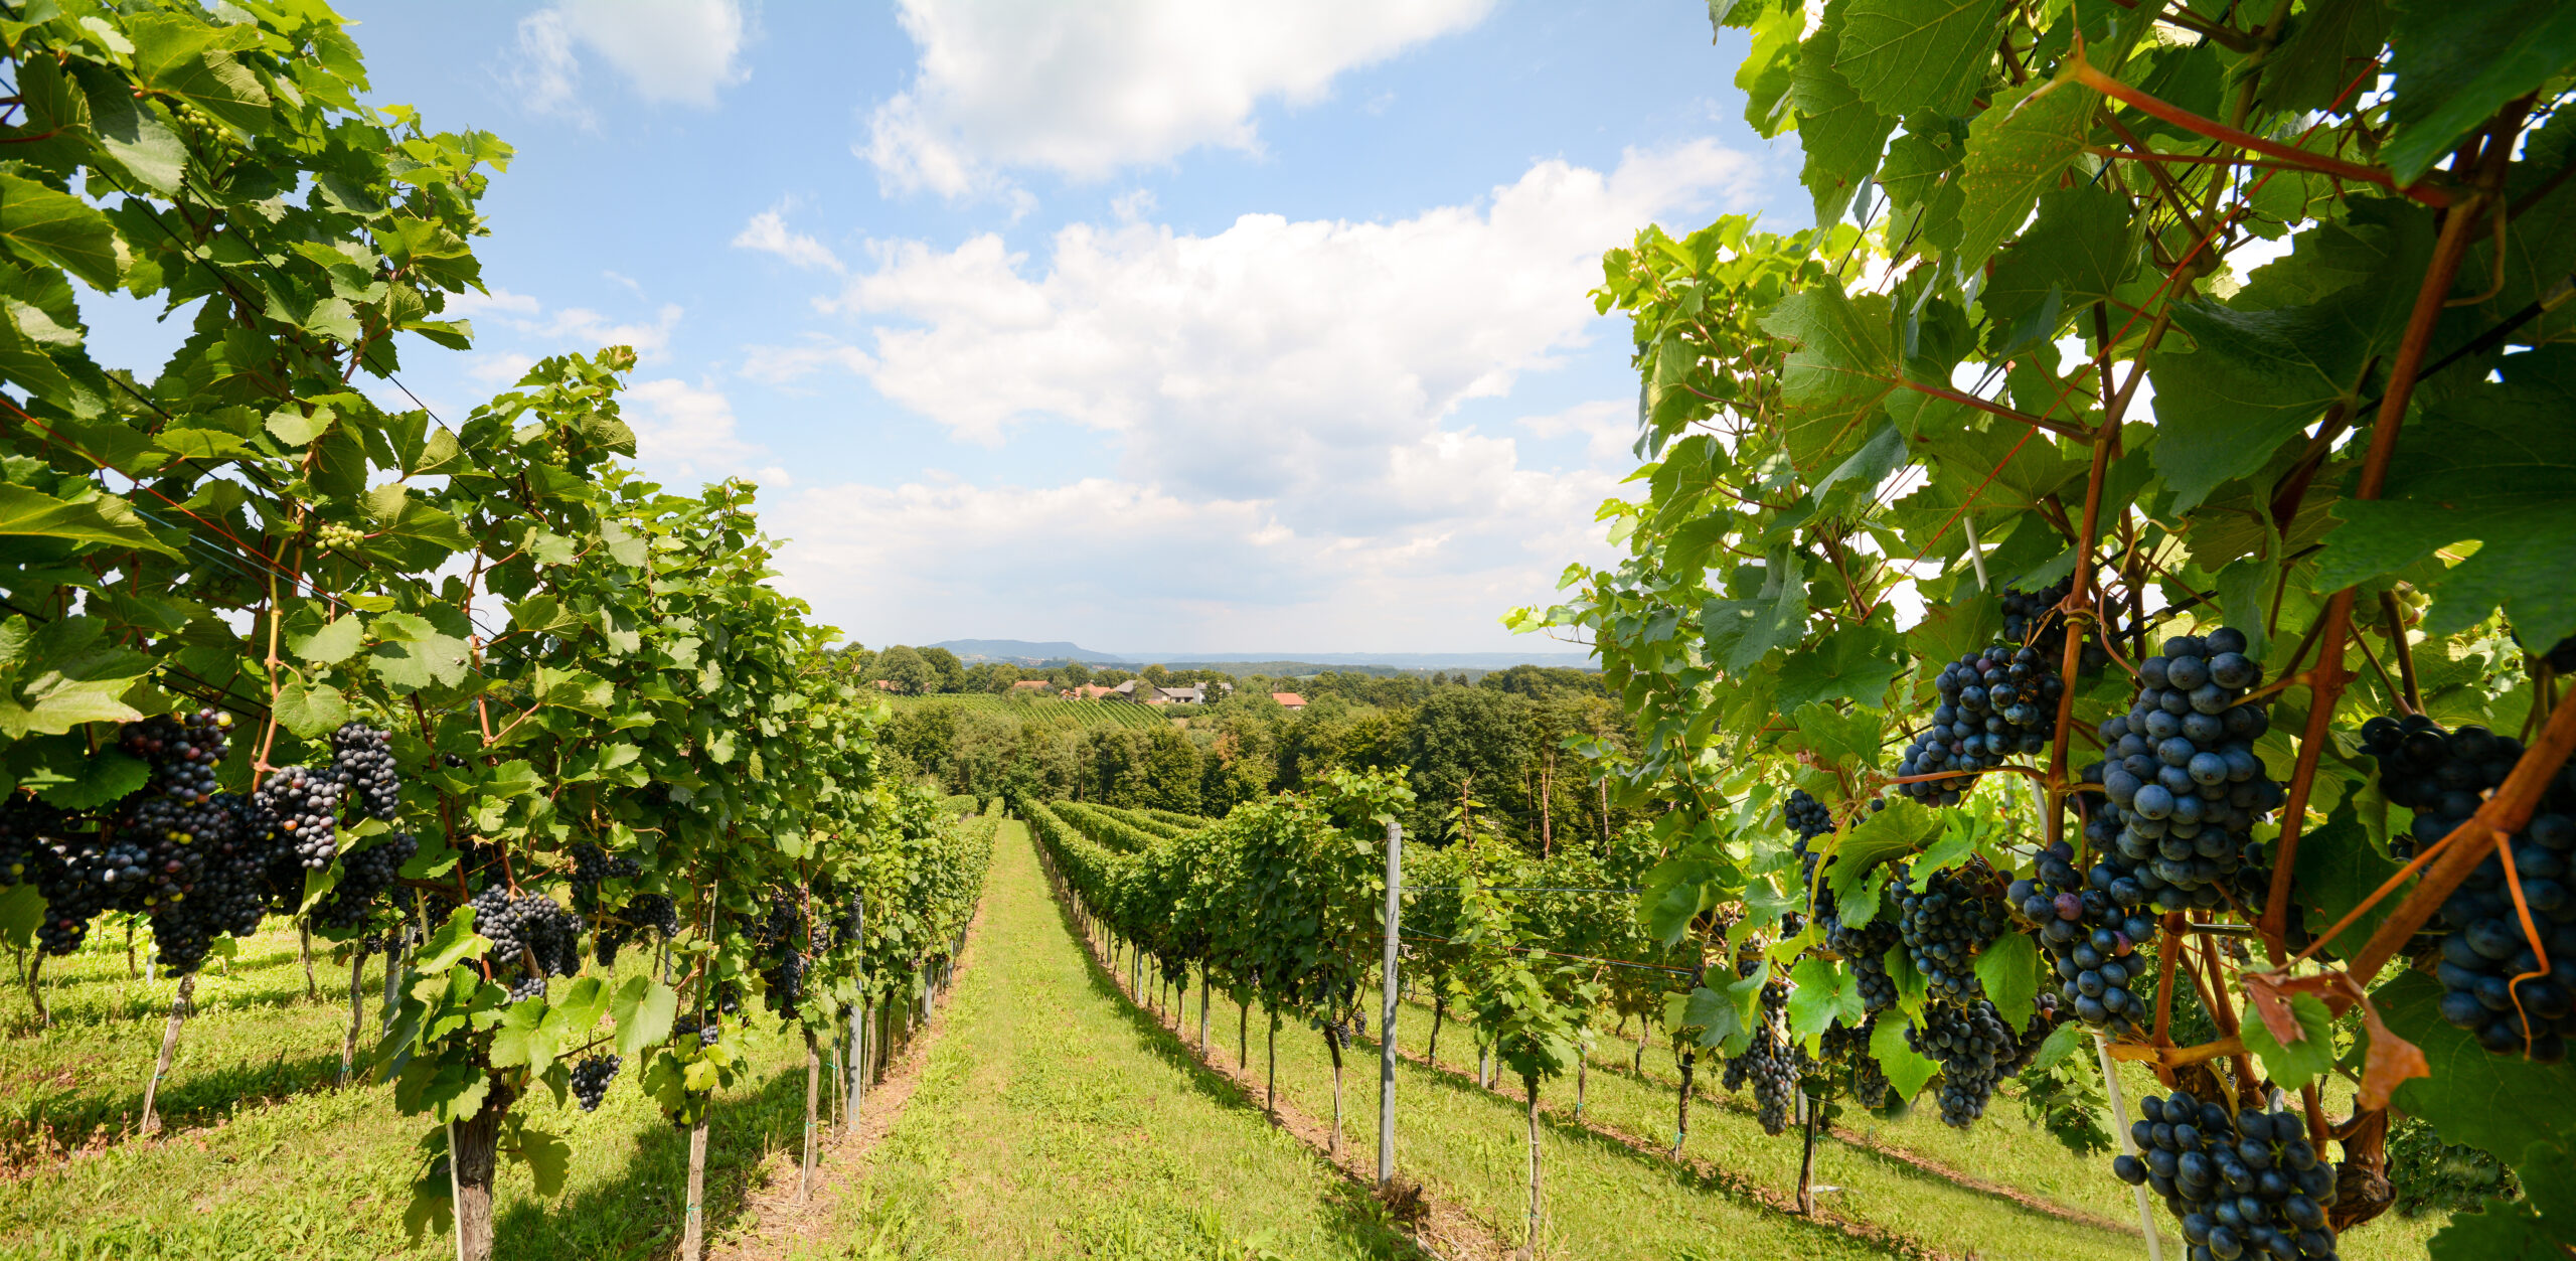
[[[0,1258],[2576,1256],[2576,8],[1710,18],[1819,227],[1602,258],[1486,768],[884,694],[634,348],[402,384],[505,142],[21,5]]]

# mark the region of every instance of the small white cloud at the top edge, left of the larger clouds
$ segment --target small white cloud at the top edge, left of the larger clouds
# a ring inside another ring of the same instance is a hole
[[[562,0],[518,21],[505,77],[533,113],[590,119],[582,49],[616,67],[644,101],[714,106],[747,77],[739,0]]]

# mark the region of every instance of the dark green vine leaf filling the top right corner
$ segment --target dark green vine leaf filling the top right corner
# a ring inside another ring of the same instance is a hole
[[[2396,132],[2380,160],[2398,186],[2432,170],[2506,101],[2576,62],[2576,5],[2561,0],[2401,0],[2388,34]],[[2367,85],[2365,85],[2367,88]]]

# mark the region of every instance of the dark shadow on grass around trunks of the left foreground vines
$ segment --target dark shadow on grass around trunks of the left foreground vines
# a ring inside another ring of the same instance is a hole
[[[538,1124],[544,1127],[544,1124]],[[634,1132],[626,1166],[559,1202],[515,1199],[492,1222],[495,1256],[536,1261],[662,1258],[680,1246],[688,1129]],[[770,1073],[747,1099],[719,1101],[706,1127],[706,1235],[742,1222],[752,1176],[770,1153],[804,1145],[804,1065]]]

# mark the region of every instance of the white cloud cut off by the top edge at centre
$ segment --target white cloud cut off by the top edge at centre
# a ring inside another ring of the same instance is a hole
[[[1200,144],[1257,150],[1265,98],[1484,21],[1492,0],[904,0],[914,83],[858,155],[889,188],[989,191],[997,168],[1105,178]]]

